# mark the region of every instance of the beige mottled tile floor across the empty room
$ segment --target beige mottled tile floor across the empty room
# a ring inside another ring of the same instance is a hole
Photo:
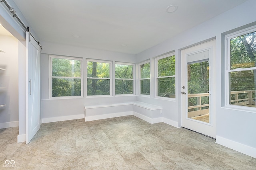
[[[17,135],[0,129],[0,169],[256,170],[255,158],[214,139],[134,116],[44,123],[28,145]]]

